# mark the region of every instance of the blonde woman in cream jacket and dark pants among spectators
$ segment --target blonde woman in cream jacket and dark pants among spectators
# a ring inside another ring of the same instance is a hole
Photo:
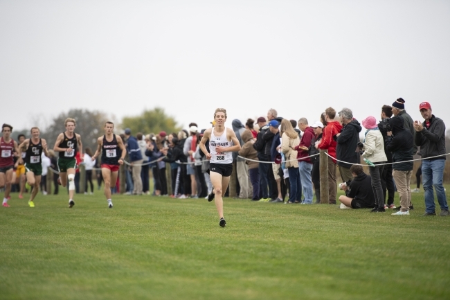
[[[302,201],[302,184],[298,170],[297,148],[300,144],[298,133],[292,127],[290,121],[281,121],[281,151],[285,154],[287,173],[289,174],[289,200],[287,203],[299,203]]]

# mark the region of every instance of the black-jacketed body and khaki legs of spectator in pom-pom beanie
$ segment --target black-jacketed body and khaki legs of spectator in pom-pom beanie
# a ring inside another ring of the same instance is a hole
[[[413,175],[413,135],[404,128],[401,116],[391,118],[389,121],[392,131],[387,132],[386,148],[392,152],[393,175],[397,191],[400,194],[400,210],[393,215],[409,215],[411,206],[411,175]],[[406,161],[404,163],[400,163]]]

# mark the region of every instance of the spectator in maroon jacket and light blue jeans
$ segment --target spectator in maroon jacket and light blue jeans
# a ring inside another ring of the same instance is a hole
[[[300,118],[298,120],[298,128],[303,132],[302,139],[300,139],[300,145],[298,145],[298,170],[300,171],[300,182],[302,183],[303,195],[305,200],[302,204],[312,204],[312,161],[309,159],[309,146],[314,139],[314,129],[309,127],[308,120],[306,118]],[[308,157],[308,158],[305,158]]]

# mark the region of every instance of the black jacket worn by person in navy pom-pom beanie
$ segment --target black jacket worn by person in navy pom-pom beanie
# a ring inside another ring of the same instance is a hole
[[[393,136],[387,136],[386,148],[392,153],[393,162],[409,161],[402,164],[393,164],[394,170],[413,170],[413,134],[404,127],[401,116],[395,116],[389,120]]]

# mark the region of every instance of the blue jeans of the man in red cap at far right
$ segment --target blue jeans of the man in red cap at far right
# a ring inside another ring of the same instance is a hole
[[[433,186],[438,196],[440,209],[449,209],[444,186],[442,185],[444,166],[445,159],[424,159],[422,162],[422,182],[425,191],[425,209],[427,213],[435,212]]]

